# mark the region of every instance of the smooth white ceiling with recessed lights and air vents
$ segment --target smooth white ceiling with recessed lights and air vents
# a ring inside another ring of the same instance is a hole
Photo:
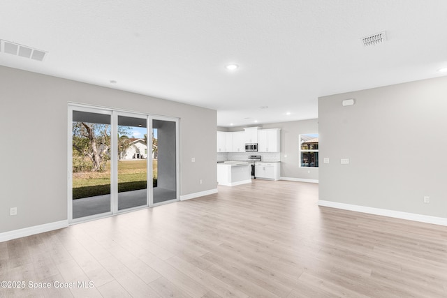
[[[218,126],[313,119],[318,96],[446,75],[446,15],[445,0],[1,0],[0,39],[48,54],[0,65],[209,107]]]

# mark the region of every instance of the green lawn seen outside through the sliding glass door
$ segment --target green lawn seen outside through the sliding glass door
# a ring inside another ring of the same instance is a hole
[[[147,188],[146,162],[119,161],[118,163],[118,192],[135,191]],[[154,160],[154,186],[157,178],[157,160]],[[73,199],[87,198],[94,195],[107,195],[110,193],[110,162],[105,172],[78,172],[73,173]]]

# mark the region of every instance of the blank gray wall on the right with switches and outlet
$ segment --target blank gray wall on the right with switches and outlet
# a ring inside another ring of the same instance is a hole
[[[446,218],[446,112],[447,77],[319,98],[320,200]]]

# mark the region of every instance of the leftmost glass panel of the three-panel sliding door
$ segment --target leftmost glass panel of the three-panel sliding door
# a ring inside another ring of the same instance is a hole
[[[72,216],[111,211],[110,111],[73,110],[71,121]]]

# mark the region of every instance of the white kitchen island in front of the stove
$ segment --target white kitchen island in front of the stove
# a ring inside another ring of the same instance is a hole
[[[251,183],[251,165],[244,161],[217,163],[217,183],[226,186]]]

